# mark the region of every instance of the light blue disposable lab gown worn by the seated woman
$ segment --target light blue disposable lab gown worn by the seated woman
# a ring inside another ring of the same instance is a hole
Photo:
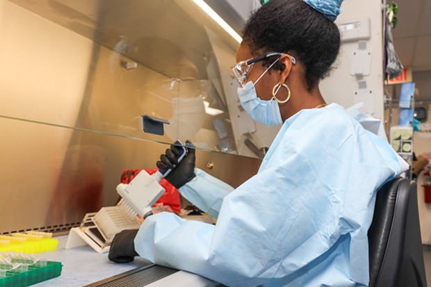
[[[196,172],[180,192],[217,224],[150,216],[135,239],[140,256],[227,286],[368,285],[375,193],[400,164],[343,107],[286,120],[259,172],[236,189]]]

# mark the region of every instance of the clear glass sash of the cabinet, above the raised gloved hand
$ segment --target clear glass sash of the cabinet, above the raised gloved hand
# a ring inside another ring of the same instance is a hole
[[[191,0],[2,1],[2,116],[254,157],[245,140],[275,136],[237,101],[237,40]]]

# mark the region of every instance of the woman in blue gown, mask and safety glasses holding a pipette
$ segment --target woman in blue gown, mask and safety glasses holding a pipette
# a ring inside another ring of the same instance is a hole
[[[227,286],[368,285],[375,192],[400,163],[387,142],[320,94],[339,52],[339,5],[273,0],[250,17],[233,68],[238,96],[254,120],[283,124],[259,172],[234,190],[195,169],[189,149],[167,179],[217,224],[151,216],[137,235],[115,238],[111,260],[133,260],[136,248]],[[158,167],[174,167],[176,152],[168,149]]]

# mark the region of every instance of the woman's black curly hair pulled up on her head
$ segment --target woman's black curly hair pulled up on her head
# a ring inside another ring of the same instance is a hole
[[[334,22],[302,0],[271,0],[248,19],[243,42],[255,56],[282,52],[297,58],[311,91],[330,73],[339,54],[340,33]],[[268,58],[263,65],[273,61]],[[284,69],[284,65],[273,68]]]

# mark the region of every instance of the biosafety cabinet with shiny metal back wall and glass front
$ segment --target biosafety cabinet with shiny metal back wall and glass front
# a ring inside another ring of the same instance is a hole
[[[177,139],[232,186],[257,172],[279,127],[240,108],[241,40],[197,3],[0,0],[0,233],[76,226]]]

